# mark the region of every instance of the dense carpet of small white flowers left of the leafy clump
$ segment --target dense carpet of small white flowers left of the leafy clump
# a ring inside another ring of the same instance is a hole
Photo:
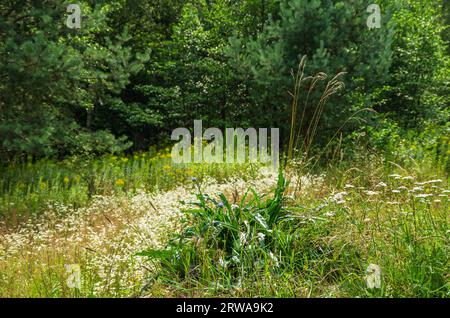
[[[249,187],[270,191],[276,182],[276,172],[261,168],[251,181],[203,180],[202,191],[232,198]],[[180,226],[180,201],[195,201],[192,185],[167,192],[138,191],[129,197],[98,196],[88,207],[78,209],[50,204],[44,214],[18,229],[0,225],[0,270],[19,275],[30,268],[54,273],[64,271],[64,264],[80,264],[82,279],[94,277],[95,296],[137,291],[154,268],[136,253],[166,244],[169,234]]]

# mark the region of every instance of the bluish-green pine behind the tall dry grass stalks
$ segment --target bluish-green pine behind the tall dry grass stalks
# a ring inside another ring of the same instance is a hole
[[[249,83],[253,103],[263,123],[289,127],[289,95],[292,70],[301,57],[308,57],[306,73],[346,72],[346,93],[334,98],[321,122],[326,140],[352,112],[371,106],[370,98],[389,77],[392,29],[366,25],[366,1],[348,4],[331,0],[280,1],[279,18],[272,18],[253,38],[230,40],[235,69]],[[383,16],[389,20],[389,14]],[[363,94],[363,92],[365,94]],[[308,107],[308,106],[304,106]],[[306,112],[309,110],[306,109]],[[328,131],[328,132],[327,132]]]

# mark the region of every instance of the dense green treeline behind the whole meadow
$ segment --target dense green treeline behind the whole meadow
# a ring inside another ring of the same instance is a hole
[[[393,148],[402,134],[448,134],[449,1],[377,1],[372,30],[366,0],[78,2],[79,30],[65,24],[71,1],[0,3],[2,163],[148,149],[194,119],[280,127],[287,142],[303,55],[307,74],[346,72],[318,146],[337,131]]]

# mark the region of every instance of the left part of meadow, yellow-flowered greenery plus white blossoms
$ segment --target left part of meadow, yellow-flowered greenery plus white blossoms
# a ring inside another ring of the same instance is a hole
[[[179,200],[191,195],[193,176],[209,188],[240,191],[260,168],[174,165],[165,150],[42,160],[2,173],[0,297],[128,297],[153,270],[135,254],[177,228]],[[68,264],[81,268],[80,289],[67,285]]]

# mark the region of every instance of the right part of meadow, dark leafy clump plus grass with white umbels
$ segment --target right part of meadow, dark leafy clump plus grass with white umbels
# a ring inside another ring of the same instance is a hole
[[[271,196],[235,205],[199,188],[184,230],[140,254],[160,268],[145,294],[449,297],[449,179],[388,171],[329,169],[295,195],[280,175]]]

